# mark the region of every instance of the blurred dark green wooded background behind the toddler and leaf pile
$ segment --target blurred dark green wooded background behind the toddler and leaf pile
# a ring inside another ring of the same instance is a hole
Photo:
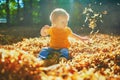
[[[0,44],[39,37],[55,8],[70,14],[69,27],[77,34],[120,35],[120,0],[0,0]]]

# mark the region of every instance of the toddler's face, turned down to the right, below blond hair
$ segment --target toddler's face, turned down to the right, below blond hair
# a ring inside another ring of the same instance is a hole
[[[55,20],[55,25],[58,28],[65,28],[68,25],[68,18],[67,16],[58,16]]]

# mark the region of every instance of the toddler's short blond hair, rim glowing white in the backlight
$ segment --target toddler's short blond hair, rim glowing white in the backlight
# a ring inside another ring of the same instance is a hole
[[[66,16],[69,20],[69,14],[62,8],[54,9],[50,14],[50,21],[54,21],[58,16]]]

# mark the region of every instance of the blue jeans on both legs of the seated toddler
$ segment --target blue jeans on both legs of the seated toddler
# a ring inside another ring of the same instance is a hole
[[[59,50],[55,50],[53,48],[43,48],[40,53],[39,53],[39,58],[40,59],[46,59],[48,57],[48,55],[50,54],[51,51],[57,51],[60,53],[60,57],[65,57],[66,59],[69,59],[69,51],[67,48],[62,48]]]

